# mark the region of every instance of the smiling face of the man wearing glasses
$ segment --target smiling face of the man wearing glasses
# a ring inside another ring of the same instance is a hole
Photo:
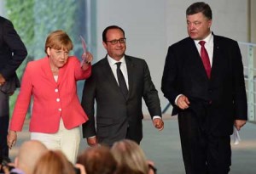
[[[104,48],[106,48],[108,55],[118,60],[125,55],[126,44],[124,41],[125,36],[119,29],[110,29],[106,34],[107,42],[103,42]],[[115,44],[112,41],[118,40]],[[120,42],[121,41],[121,42]]]

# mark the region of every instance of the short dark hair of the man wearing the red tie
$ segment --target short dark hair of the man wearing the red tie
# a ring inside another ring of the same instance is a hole
[[[212,20],[212,9],[207,3],[203,2],[191,4],[186,10],[186,15],[198,14],[200,12],[204,14],[209,20]]]

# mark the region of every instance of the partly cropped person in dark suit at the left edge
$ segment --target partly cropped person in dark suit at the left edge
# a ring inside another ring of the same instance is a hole
[[[9,160],[9,95],[15,92],[16,87],[20,87],[15,70],[26,54],[26,47],[12,23],[0,16],[0,146],[5,160]]]

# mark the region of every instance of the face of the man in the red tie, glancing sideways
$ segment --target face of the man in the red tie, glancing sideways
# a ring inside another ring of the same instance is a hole
[[[194,40],[202,40],[210,34],[212,20],[207,19],[202,13],[187,15],[187,30]]]

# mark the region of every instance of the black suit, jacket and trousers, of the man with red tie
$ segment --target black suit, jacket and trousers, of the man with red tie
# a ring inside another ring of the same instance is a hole
[[[247,96],[238,44],[215,35],[213,44],[211,79],[207,78],[200,54],[190,37],[173,44],[166,55],[161,89],[173,106],[172,115],[178,115],[187,173],[214,171],[214,166],[209,165],[210,169],[206,169],[202,160],[210,159],[211,155],[225,160],[226,166],[230,166],[230,134],[234,120],[247,120]],[[189,109],[177,107],[175,98],[178,94],[189,98]],[[225,149],[223,154],[213,152],[211,146],[216,142]],[[208,151],[192,147],[195,144]]]

